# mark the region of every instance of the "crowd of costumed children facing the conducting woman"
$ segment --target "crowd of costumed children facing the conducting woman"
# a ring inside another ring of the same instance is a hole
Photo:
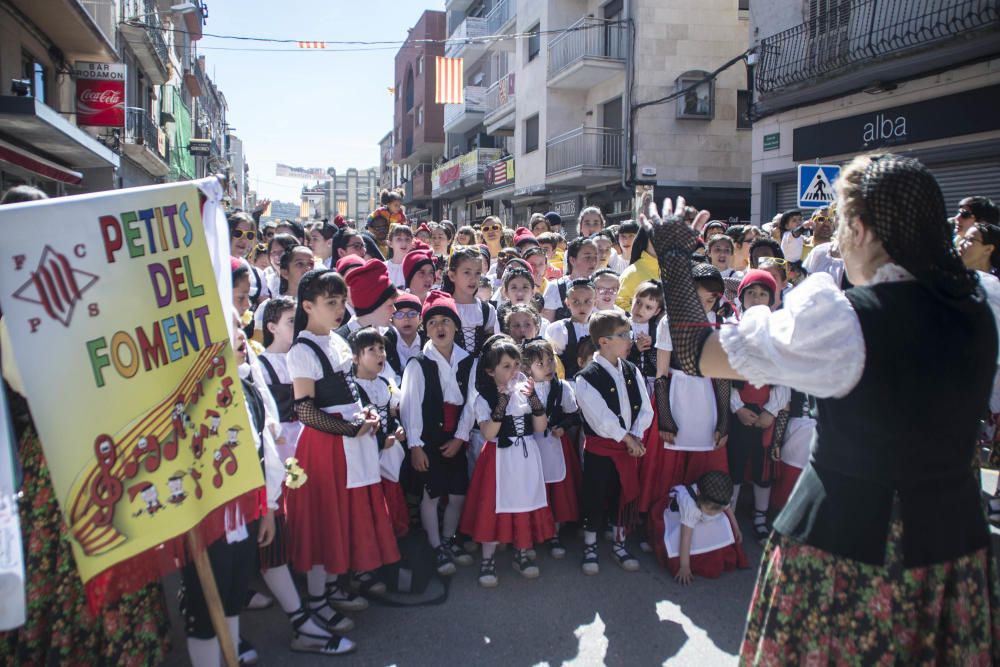
[[[616,305],[632,271],[617,244],[635,242],[634,258],[648,252],[639,226],[608,231],[587,209],[580,229],[593,233],[560,247],[550,213],[532,223],[552,247],[526,228],[506,246],[496,218],[479,238],[450,223],[414,230],[398,196],[383,201],[368,232],[325,222],[310,248],[305,230],[273,229],[263,270],[233,259],[234,307],[254,341],[247,366],[258,369],[248,391],[277,415],[258,429],[261,451],[271,441],[286,471],[262,521],[274,527],[260,564],[291,619],[292,648],[354,649],[344,612],[385,590],[379,570],[400,559],[411,508],[437,571],[472,565],[480,550],[483,587],[499,582],[499,545],[513,546],[512,567],[527,578],[539,575],[536,547],[563,558],[564,524],[582,528],[588,575],[600,571],[601,534],[626,571],[639,568],[633,533],[682,583],[745,567],[740,484],[753,483],[763,539],[781,502],[772,489],[780,480],[787,493],[804,464],[782,445],[786,431],[808,436],[808,402],[671,369],[659,284],[633,283],[631,307]],[[234,255],[248,250],[244,218],[230,220]],[[777,307],[781,269],[723,277],[693,264],[706,319],[692,325]],[[305,574],[304,601],[289,566]]]

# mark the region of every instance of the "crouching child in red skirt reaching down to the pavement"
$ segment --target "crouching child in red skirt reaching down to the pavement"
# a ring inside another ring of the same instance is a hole
[[[657,557],[678,582],[747,567],[743,536],[729,506],[732,494],[733,480],[713,470],[694,484],[675,486],[651,513]]]

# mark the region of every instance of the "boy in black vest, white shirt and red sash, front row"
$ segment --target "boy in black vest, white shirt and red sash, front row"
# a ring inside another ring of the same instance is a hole
[[[639,457],[643,436],[653,423],[646,383],[627,360],[632,328],[621,313],[603,311],[590,318],[590,338],[598,352],[576,376],[577,404],[583,417],[583,572],[599,572],[597,531],[614,511],[615,562],[628,572],[639,561],[625,548],[625,536],[639,497]]]

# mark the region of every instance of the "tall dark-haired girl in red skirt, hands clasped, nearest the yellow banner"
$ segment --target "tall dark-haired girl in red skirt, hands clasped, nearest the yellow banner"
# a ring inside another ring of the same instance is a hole
[[[386,510],[374,431],[378,415],[362,408],[347,342],[334,335],[347,285],[328,269],[299,282],[296,341],[288,352],[295,411],[304,425],[296,455],[305,481],[286,498],[291,561],[306,572],[309,602],[327,621],[333,609],[368,606],[337,577],[399,560]]]

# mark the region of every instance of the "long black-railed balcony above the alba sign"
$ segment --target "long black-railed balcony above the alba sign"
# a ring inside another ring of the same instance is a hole
[[[831,94],[995,54],[996,0],[846,0],[761,40],[761,99]]]

